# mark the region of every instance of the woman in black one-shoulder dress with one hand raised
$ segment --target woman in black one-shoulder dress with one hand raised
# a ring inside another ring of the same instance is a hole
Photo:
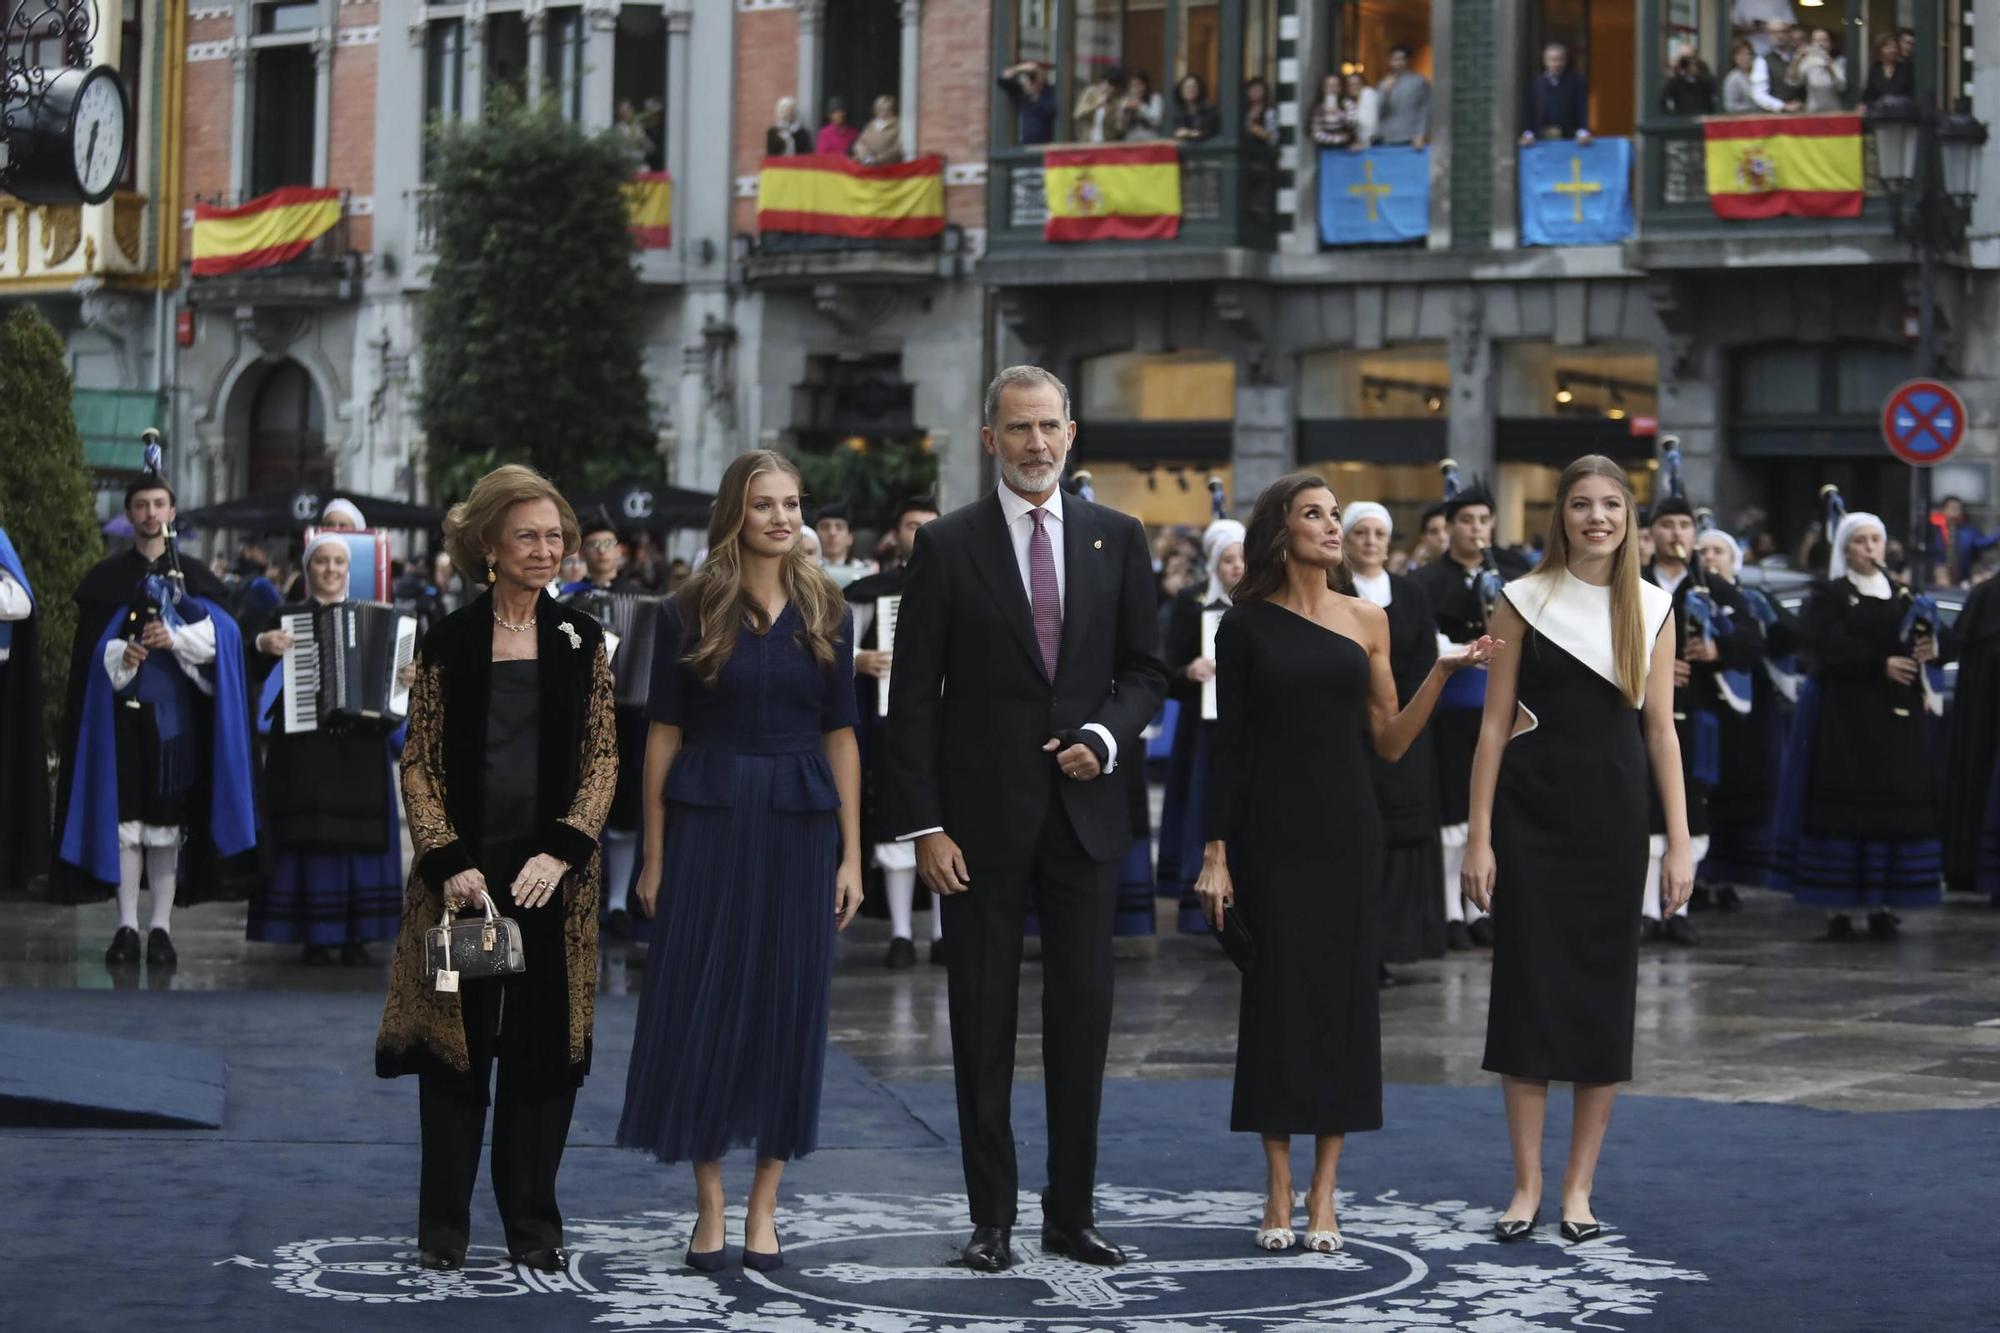
[[[1258,496],[1236,606],[1216,630],[1216,749],[1196,893],[1216,929],[1240,913],[1256,959],[1236,1021],[1230,1129],[1264,1139],[1260,1249],[1290,1249],[1292,1135],[1316,1141],[1306,1247],[1340,1249],[1334,1173],[1350,1131],[1382,1127],[1376,919],[1382,821],[1368,749],[1396,761],[1444,677],[1502,646],[1456,646],[1396,709],[1388,616],[1334,588],[1340,506],[1294,472]],[[1366,739],[1366,745],[1364,745]]]

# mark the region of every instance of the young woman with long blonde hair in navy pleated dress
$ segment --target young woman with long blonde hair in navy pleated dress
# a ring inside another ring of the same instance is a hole
[[[782,1263],[778,1177],[818,1141],[834,933],[862,903],[852,618],[804,522],[790,460],[736,458],[652,658],[636,893],[654,927],[618,1143],[694,1163],[702,1271],[724,1261],[738,1145],[756,1149],[744,1265]]]

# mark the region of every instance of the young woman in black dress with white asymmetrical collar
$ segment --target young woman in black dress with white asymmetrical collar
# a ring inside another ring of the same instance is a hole
[[[1462,871],[1466,895],[1494,915],[1484,1067],[1500,1075],[1514,1145],[1514,1199],[1494,1233],[1534,1231],[1542,1117],[1560,1079],[1576,1085],[1562,1235],[1588,1241],[1612,1095],[1632,1077],[1648,785],[1666,813],[1664,911],[1694,889],[1672,598],[1640,580],[1616,462],[1590,454],[1564,468],[1548,554],[1506,586],[1494,632],[1520,648],[1486,679]]]

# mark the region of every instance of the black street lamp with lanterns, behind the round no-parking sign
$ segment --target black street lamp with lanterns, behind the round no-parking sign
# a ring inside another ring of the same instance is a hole
[[[1928,102],[1880,98],[1868,106],[1876,166],[1894,208],[1896,236],[1916,250],[1916,372],[1938,374],[1936,268],[1966,244],[1966,224],[1980,192],[1986,126],[1960,102],[1940,114]],[[1910,476],[1910,568],[1930,580],[1930,468]]]

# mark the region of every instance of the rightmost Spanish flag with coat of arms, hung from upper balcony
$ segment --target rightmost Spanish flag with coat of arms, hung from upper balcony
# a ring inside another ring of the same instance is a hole
[[[1858,114],[1720,116],[1702,122],[1702,136],[1718,218],[1860,216]]]

